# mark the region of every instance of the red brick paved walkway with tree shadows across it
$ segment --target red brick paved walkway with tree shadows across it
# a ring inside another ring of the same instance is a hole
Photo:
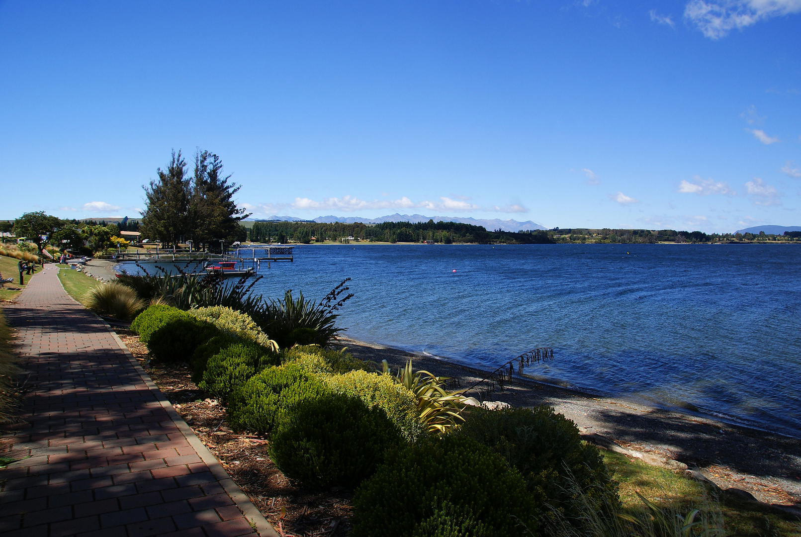
[[[30,377],[0,439],[22,459],[0,470],[0,535],[277,535],[57,269],[4,310]]]

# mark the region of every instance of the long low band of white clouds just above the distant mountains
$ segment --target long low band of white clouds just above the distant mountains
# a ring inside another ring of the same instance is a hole
[[[369,211],[375,209],[409,209],[422,208],[430,211],[478,211],[489,212],[528,212],[529,209],[520,204],[510,204],[505,206],[493,205],[482,208],[477,204],[469,202],[465,196],[441,197],[438,201],[419,201],[415,202],[406,196],[397,200],[361,200],[356,196],[342,196],[323,198],[323,200],[312,200],[310,198],[297,197],[292,203],[288,204],[242,204],[248,211],[260,214],[268,214],[286,209],[296,211]]]

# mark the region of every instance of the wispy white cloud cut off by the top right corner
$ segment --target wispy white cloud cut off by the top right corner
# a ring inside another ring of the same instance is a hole
[[[801,12],[801,0],[690,0],[684,18],[706,37],[719,39],[759,21]]]

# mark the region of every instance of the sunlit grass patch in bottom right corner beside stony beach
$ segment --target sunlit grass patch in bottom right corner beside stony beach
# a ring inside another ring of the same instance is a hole
[[[694,508],[717,511],[723,516],[726,535],[801,535],[801,521],[785,520],[748,503],[720,502],[714,491],[693,478],[685,477],[683,472],[662,470],[612,451],[604,451],[604,462],[620,483],[624,509],[642,507],[636,494],[639,492],[660,507],[670,507],[682,515]]]

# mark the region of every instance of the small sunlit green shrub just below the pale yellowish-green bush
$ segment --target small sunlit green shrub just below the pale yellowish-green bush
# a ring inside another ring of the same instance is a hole
[[[256,343],[228,345],[209,358],[198,387],[225,401],[232,390],[243,385],[261,369],[278,363],[276,353]]]

